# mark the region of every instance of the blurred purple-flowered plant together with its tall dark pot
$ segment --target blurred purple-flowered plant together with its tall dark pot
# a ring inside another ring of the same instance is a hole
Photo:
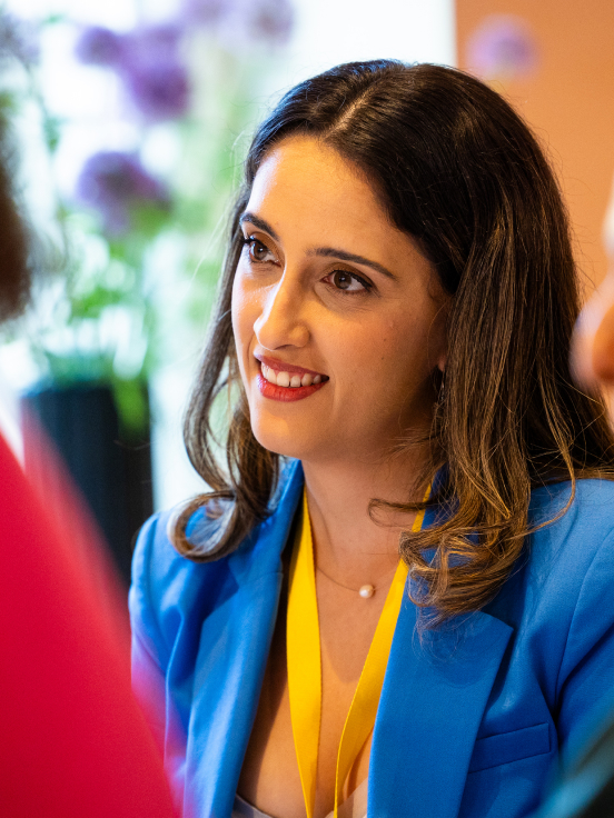
[[[149,383],[202,341],[241,137],[291,28],[289,0],[186,0],[168,19],[122,31],[66,16],[38,27],[0,17],[0,53],[21,77],[0,102],[16,120],[29,110],[29,128],[38,120],[49,171],[49,275],[38,279],[27,332],[13,327],[4,340],[20,345],[24,405],[126,577],[130,539],[152,510]],[[46,92],[50,32],[93,97],[87,138],[83,121],[58,116]]]

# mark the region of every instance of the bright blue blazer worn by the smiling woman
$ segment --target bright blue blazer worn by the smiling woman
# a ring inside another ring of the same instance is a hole
[[[138,539],[135,678],[164,680],[167,769],[199,818],[231,812],[301,491],[295,461],[270,517],[214,562],[174,550],[168,515]],[[552,518],[568,493],[568,483],[534,491],[531,520]],[[218,530],[201,510],[188,535],[215,542]],[[578,481],[570,510],[527,538],[483,610],[422,640],[415,625],[406,598],[375,722],[369,818],[528,815],[559,747],[614,686],[614,483]]]

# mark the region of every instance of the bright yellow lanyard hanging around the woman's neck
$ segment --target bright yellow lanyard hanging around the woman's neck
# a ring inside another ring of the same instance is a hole
[[[313,818],[321,720],[321,661],[314,547],[306,492],[301,513],[290,562],[286,639],[296,757],[307,818]],[[414,531],[420,529],[423,518],[424,512],[420,512],[414,522]],[[406,577],[407,566],[399,561],[345,721],[337,755],[335,818],[345,780],[375,724]]]

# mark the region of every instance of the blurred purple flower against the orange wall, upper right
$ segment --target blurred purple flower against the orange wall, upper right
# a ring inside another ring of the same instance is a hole
[[[527,77],[538,62],[538,48],[528,24],[519,17],[491,14],[467,44],[468,63],[485,79]]]

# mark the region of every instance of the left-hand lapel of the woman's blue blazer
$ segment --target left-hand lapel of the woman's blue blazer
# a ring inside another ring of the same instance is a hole
[[[275,512],[228,558],[237,583],[202,627],[188,726],[186,815],[229,818],[277,619],[281,552],[303,492],[290,466]]]

